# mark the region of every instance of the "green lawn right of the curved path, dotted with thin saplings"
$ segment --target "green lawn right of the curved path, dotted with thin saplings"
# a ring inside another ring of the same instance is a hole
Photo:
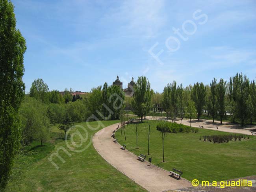
[[[162,162],[162,143],[157,121],[151,121],[150,155],[147,155],[148,121],[139,124],[138,148],[136,149],[135,125],[129,124],[124,133],[121,130],[115,134],[119,143],[139,155],[152,156],[152,163],[171,170],[177,168],[183,171],[183,177],[192,181],[221,181],[249,175],[256,175],[256,137],[241,141],[213,144],[199,140],[203,135],[230,134],[220,131],[199,129],[198,133],[169,133],[164,140],[165,162]]]

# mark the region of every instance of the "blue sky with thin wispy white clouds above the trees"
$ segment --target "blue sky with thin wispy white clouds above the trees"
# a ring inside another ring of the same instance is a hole
[[[255,0],[12,0],[26,39],[26,92],[123,88],[146,76],[162,92],[242,72],[256,78]]]

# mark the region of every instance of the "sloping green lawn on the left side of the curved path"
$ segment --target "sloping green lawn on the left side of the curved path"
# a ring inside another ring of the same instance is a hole
[[[117,123],[119,121],[104,121],[104,126]],[[90,123],[96,127],[97,122]],[[83,143],[80,148],[83,149],[91,136],[98,130],[89,129],[85,123],[80,123],[88,131],[88,140]],[[74,131],[80,131],[85,138],[86,133],[82,128],[76,128],[70,131],[70,135]],[[81,134],[79,134],[81,136]],[[123,175],[121,172],[113,168],[106,162],[93,147],[89,145],[85,151],[76,153],[69,150],[65,141],[61,138],[63,134],[59,132],[57,127],[52,127],[52,139],[45,146],[38,146],[38,142],[33,142],[30,146],[23,149],[23,152],[17,155],[13,174],[6,187],[6,192],[73,192],[73,191],[145,191],[141,186],[137,185]],[[74,137],[74,142],[80,144],[81,139]],[[71,140],[69,140],[70,144]],[[63,147],[71,154],[69,157],[62,150],[59,155],[65,160],[61,162],[57,157],[53,157],[53,161],[59,166],[57,170],[49,161],[48,157],[56,149]]]

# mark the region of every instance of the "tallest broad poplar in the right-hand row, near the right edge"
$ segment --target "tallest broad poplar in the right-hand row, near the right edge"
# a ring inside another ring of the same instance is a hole
[[[246,101],[249,99],[249,90],[250,82],[247,76],[237,73],[236,76],[230,78],[230,95],[235,104],[236,116],[241,119],[242,125],[247,118]]]

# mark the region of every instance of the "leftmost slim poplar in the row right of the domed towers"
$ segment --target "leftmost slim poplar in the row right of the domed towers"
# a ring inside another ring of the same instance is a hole
[[[163,97],[162,97],[162,107],[166,112],[167,118],[171,119],[171,111],[172,111],[172,100],[171,100],[171,84],[167,84],[163,89]]]

